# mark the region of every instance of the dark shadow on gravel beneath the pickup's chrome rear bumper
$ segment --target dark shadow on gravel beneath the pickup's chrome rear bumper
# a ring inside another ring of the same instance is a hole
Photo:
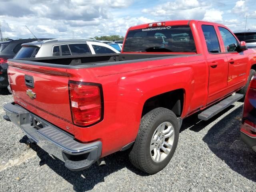
[[[27,140],[28,137],[24,136],[20,140],[20,142],[26,144]],[[62,178],[72,184],[74,190],[77,192],[92,190],[92,188],[94,188],[96,184],[104,182],[104,178],[106,176],[112,174],[113,172],[121,170],[124,167],[128,168],[129,170],[140,176],[148,176],[148,174],[141,172],[132,166],[128,158],[128,150],[124,152],[116,152],[114,154],[106,156],[106,166],[99,167],[97,163],[94,163],[87,170],[73,172],[65,167],[64,162],[62,162],[58,158],[52,158],[52,156],[42,150],[39,146],[32,145],[31,148],[36,151],[38,157],[41,159],[41,161],[39,162],[40,166],[46,164],[54,172],[56,172],[58,175],[62,176]]]

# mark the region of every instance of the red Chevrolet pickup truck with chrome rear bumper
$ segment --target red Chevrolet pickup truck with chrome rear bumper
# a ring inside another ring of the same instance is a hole
[[[4,118],[29,142],[70,170],[130,148],[132,164],[154,174],[171,160],[182,119],[208,120],[244,97],[256,53],[221,24],[182,20],[130,27],[121,54],[8,65],[14,102]]]

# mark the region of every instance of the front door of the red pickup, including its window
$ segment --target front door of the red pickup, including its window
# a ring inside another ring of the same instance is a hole
[[[247,80],[246,69],[248,57],[244,52],[237,52],[238,40],[226,28],[218,26],[224,46],[224,52],[228,59],[228,87],[233,90],[240,88]]]

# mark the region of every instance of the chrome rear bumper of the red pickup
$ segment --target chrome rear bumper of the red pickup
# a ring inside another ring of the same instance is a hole
[[[86,144],[77,142],[72,135],[14,103],[5,104],[4,110],[6,112],[4,119],[22,128],[28,138],[49,154],[65,162],[65,166],[70,170],[89,168],[101,156],[100,141]]]

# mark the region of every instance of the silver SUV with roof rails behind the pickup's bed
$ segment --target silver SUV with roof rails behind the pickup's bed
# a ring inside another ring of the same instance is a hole
[[[22,44],[22,48],[14,57],[33,58],[82,54],[120,53],[108,44],[84,39],[54,39]]]

